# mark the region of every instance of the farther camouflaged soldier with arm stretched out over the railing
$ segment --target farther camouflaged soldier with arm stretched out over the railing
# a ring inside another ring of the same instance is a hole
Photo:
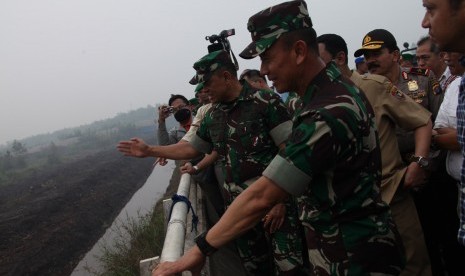
[[[179,154],[172,148],[158,147],[156,156],[184,159],[190,152],[215,151],[223,162],[224,198],[228,206],[261,176],[279,146],[284,146],[292,122],[279,95],[237,80],[228,52],[209,53],[194,64],[194,69],[196,75],[191,83],[204,84],[212,107],[189,143],[177,145],[182,149]],[[224,75],[228,79],[226,84],[222,83]],[[145,156],[149,154],[146,152]],[[295,202],[289,199],[276,204],[264,217],[264,224],[271,232],[272,249],[261,222],[235,240],[247,272],[250,275],[272,275],[274,270],[278,275],[303,273],[303,241]]]

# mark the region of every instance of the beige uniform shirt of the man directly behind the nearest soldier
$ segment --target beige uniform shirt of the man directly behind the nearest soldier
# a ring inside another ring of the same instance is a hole
[[[350,78],[366,95],[376,117],[381,146],[381,196],[389,203],[404,177],[396,126],[414,130],[428,123],[431,113],[397,89],[387,78],[353,73]]]

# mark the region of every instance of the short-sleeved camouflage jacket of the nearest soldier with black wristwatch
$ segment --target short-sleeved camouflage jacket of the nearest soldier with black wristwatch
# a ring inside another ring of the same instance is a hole
[[[399,272],[400,240],[380,196],[381,153],[368,100],[329,64],[302,101],[285,151],[263,175],[298,197],[313,271]],[[385,264],[363,267],[379,260]]]

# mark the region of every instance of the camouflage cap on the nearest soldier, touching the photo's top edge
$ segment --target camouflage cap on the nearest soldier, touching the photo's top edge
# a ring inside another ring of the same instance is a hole
[[[269,7],[249,18],[247,29],[252,43],[239,54],[251,59],[270,48],[278,38],[287,32],[312,27],[305,1],[290,1]]]

